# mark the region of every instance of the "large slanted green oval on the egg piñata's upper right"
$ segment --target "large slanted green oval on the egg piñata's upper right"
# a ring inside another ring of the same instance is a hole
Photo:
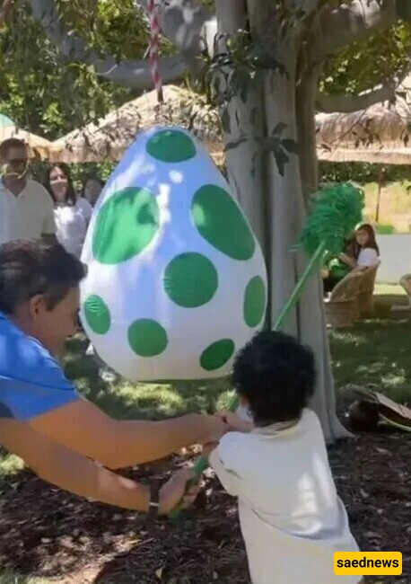
[[[214,184],[197,190],[191,217],[198,232],[219,252],[233,260],[249,260],[256,242],[246,218],[231,195]]]

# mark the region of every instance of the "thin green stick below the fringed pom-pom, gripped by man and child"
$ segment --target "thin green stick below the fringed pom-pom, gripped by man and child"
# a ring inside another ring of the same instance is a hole
[[[310,278],[310,275],[312,274],[312,272],[314,270],[317,269],[317,264],[319,263],[319,260],[321,260],[323,253],[325,252],[326,245],[327,245],[326,242],[322,241],[321,243],[319,243],[317,250],[311,255],[310,261],[307,264],[307,267],[304,270],[302,277],[298,280],[297,284],[295,285],[295,288],[293,289],[292,295],[288,298],[281,313],[278,314],[278,317],[277,317],[277,319],[275,321],[275,325],[274,325],[275,331],[280,331],[283,328],[285,319],[287,318],[288,314],[290,314],[293,307],[299,301],[300,296],[302,295],[302,291],[304,289],[304,286],[305,286],[306,282],[308,281],[308,279]],[[238,403],[237,395],[233,395],[232,399],[230,400],[230,403],[228,405],[228,409],[230,411],[236,411],[238,408],[238,405],[239,405],[239,403]],[[201,478],[201,475],[206,470],[207,466],[208,466],[208,459],[206,458],[206,456],[201,456],[197,460],[197,463],[194,465],[194,468],[193,468],[195,477],[192,481],[192,484],[197,484],[197,482]],[[176,509],[173,509],[171,511],[170,518],[177,519],[179,517],[180,510],[181,510],[180,506],[176,507]]]

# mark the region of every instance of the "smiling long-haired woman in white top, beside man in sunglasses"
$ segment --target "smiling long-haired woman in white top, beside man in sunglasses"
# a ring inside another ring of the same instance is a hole
[[[77,199],[70,170],[66,164],[53,164],[48,169],[46,188],[55,203],[57,240],[67,252],[80,257],[92,206],[87,199]]]

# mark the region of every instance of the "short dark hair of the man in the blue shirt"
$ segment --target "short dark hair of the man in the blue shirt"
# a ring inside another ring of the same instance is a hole
[[[0,311],[13,314],[33,296],[45,296],[48,310],[86,274],[84,264],[59,243],[22,240],[0,245]]]

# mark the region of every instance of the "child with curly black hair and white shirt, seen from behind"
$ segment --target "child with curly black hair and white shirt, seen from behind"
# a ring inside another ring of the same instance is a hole
[[[338,497],[319,419],[308,403],[316,369],[310,348],[283,332],[260,332],[236,356],[233,385],[253,422],[231,412],[206,454],[238,499],[253,584],[357,584],[336,576],[335,552],[358,552]]]

